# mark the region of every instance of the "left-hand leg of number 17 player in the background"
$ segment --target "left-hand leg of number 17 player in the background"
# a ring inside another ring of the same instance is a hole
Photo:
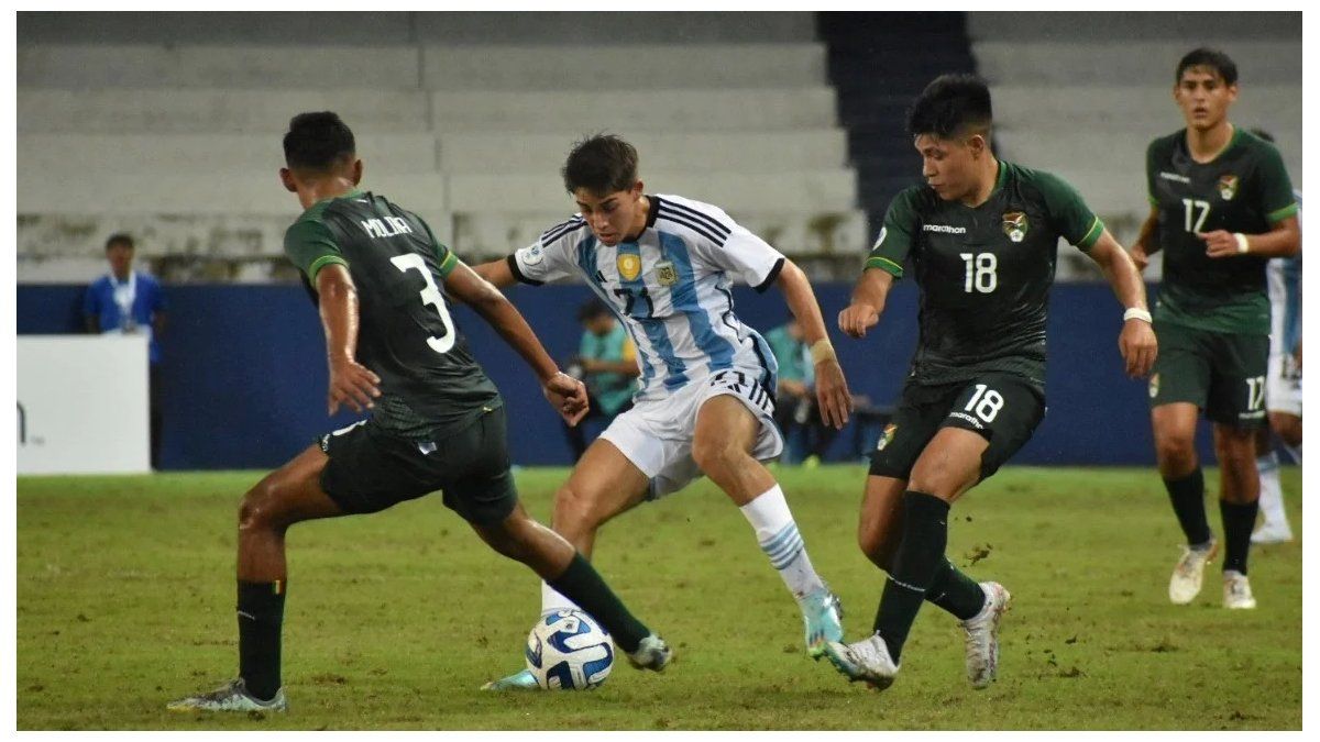
[[[1168,599],[1187,605],[1201,591],[1205,565],[1218,552],[1205,518],[1205,479],[1196,459],[1195,404],[1176,401],[1151,409],[1155,433],[1155,461],[1177,523],[1187,537],[1183,556],[1168,581]]]

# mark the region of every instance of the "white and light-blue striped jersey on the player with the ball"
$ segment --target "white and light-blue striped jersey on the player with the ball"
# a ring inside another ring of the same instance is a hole
[[[546,230],[508,257],[517,280],[585,280],[623,321],[638,349],[638,401],[664,397],[723,370],[774,396],[775,356],[734,314],[734,283],[766,290],[784,256],[721,209],[677,195],[648,195],[635,240],[601,244],[581,217]]]

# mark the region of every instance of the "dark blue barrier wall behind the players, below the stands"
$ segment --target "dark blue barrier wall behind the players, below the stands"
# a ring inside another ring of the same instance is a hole
[[[18,334],[74,333],[82,326],[81,287],[20,285]],[[325,412],[325,346],[315,308],[296,285],[173,285],[169,327],[162,337],[165,469],[269,469],[289,459],[317,434],[350,424],[352,415]],[[895,288],[880,325],[865,341],[841,338],[834,317],[849,297],[846,284],[820,284],[817,297],[832,327],[854,393],[892,403],[916,342],[916,290]],[[578,345],[577,306],[583,287],[519,287],[510,297],[561,359]],[[776,290],[734,292],[738,314],[758,329],[788,317]],[[513,459],[524,465],[569,463],[558,419],[540,396],[521,360],[475,314],[454,312],[478,359],[516,411],[510,425]],[[1118,356],[1121,312],[1109,287],[1055,287],[1049,312],[1048,413],[1015,463],[1151,465],[1154,452],[1146,386],[1123,375]],[[1204,428],[1204,425],[1203,425]],[[1209,457],[1203,429],[1199,444]],[[830,458],[846,458],[845,430]],[[1209,461],[1209,458],[1206,458]]]

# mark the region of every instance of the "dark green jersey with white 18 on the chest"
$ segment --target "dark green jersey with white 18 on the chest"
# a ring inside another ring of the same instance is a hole
[[[999,162],[981,206],[912,186],[890,203],[866,261],[902,279],[908,257],[921,289],[917,383],[1015,374],[1044,387],[1045,313],[1059,238],[1090,250],[1105,226],[1049,173]]]

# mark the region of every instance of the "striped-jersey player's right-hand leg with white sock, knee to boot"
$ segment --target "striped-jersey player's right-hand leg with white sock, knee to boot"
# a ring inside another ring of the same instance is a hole
[[[692,458],[756,532],[756,543],[803,610],[808,652],[818,658],[825,642],[843,635],[840,605],[812,566],[784,491],[752,455],[762,426],[772,424],[759,420],[731,393],[713,396],[697,412]]]

